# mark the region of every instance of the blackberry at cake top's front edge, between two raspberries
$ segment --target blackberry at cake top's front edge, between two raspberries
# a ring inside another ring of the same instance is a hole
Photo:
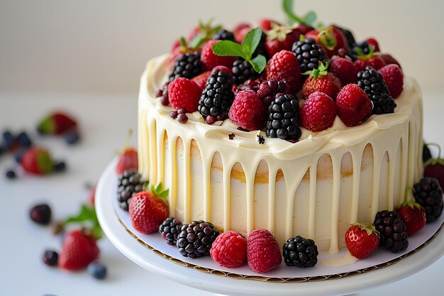
[[[301,137],[299,128],[299,102],[291,94],[277,94],[268,107],[267,137],[298,140]]]

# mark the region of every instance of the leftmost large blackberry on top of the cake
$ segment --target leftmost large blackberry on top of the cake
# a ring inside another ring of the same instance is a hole
[[[201,54],[199,52],[194,53],[181,53],[174,61],[173,70],[170,73],[168,82],[172,82],[178,77],[185,77],[192,79],[202,72]]]

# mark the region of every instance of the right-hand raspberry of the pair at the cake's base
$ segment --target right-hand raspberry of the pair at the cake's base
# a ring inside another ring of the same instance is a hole
[[[248,267],[255,273],[266,273],[281,264],[279,244],[270,231],[266,229],[251,231],[247,242],[247,261]]]

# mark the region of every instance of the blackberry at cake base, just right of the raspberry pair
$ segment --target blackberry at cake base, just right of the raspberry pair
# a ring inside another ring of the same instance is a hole
[[[284,243],[284,262],[287,266],[311,267],[318,263],[318,247],[312,239],[296,236]]]

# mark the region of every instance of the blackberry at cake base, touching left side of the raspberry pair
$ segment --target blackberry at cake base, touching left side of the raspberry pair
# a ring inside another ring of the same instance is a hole
[[[184,257],[197,258],[210,253],[213,241],[219,231],[213,224],[205,221],[192,221],[183,225],[177,238],[177,248]]]

